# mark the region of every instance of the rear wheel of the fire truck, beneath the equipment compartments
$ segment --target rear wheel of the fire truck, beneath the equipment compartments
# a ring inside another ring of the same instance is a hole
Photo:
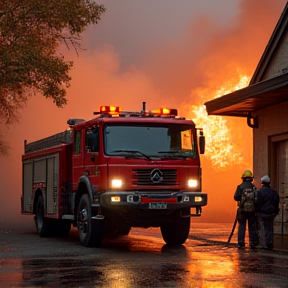
[[[36,229],[40,237],[51,236],[50,219],[44,216],[44,200],[42,196],[38,197],[36,203],[36,216],[35,216]]]

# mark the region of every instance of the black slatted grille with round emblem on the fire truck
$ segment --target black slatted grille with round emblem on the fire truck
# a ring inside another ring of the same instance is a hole
[[[153,180],[153,174],[158,172],[161,175],[159,181]],[[133,169],[132,184],[138,186],[172,186],[177,185],[176,169]]]

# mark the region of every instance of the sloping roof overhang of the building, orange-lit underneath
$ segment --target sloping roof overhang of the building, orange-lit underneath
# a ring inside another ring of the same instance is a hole
[[[288,73],[205,102],[208,115],[249,117],[253,112],[288,101]]]

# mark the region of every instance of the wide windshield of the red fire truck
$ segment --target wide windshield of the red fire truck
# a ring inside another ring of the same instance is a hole
[[[191,125],[104,127],[106,155],[127,157],[195,158],[196,139]]]

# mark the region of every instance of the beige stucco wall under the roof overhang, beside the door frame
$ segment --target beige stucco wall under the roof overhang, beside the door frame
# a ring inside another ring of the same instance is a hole
[[[269,173],[268,137],[288,132],[288,102],[257,111],[259,128],[253,129],[253,170],[255,184]]]

